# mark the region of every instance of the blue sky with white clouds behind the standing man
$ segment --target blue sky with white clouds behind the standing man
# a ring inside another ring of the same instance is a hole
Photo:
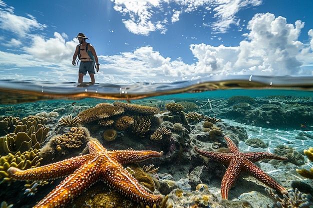
[[[97,52],[98,83],[313,75],[312,9],[311,0],[0,0],[1,78],[76,82],[78,32]]]

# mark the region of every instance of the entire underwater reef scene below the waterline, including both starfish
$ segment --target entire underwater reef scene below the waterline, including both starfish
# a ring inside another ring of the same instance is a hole
[[[224,89],[2,80],[2,207],[311,208],[312,83],[234,78]]]

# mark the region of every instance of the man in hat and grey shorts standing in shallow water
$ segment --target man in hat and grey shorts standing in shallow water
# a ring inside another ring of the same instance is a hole
[[[88,55],[88,51],[89,51],[89,53],[91,52],[91,54],[94,56],[94,60],[96,63],[96,72],[99,71],[99,65],[100,65],[98,62],[98,57],[95,53],[93,46],[86,42],[86,39],[89,39],[89,38],[87,38],[83,33],[78,33],[78,35],[76,37],[78,38],[80,44],[78,44],[76,46],[76,50],[75,50],[74,55],[73,55],[72,64],[74,66],[76,66],[75,60],[76,60],[76,57],[78,55],[78,59],[80,60],[79,71],[78,71],[78,82],[82,83],[82,78],[84,75],[86,75],[86,73],[88,71],[88,74],[89,74],[90,79],[91,79],[91,83],[94,83],[95,72],[94,72],[93,59],[92,59],[92,57],[90,57]],[[78,54],[79,46],[80,46],[80,50],[79,50],[79,54]],[[86,48],[88,51],[86,51]]]

